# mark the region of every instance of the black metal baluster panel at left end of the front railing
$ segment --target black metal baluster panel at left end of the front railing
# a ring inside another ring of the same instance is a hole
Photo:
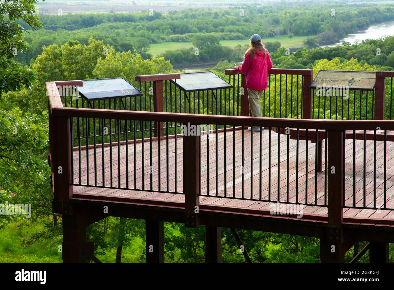
[[[80,125],[78,118],[72,119]],[[171,133],[169,127],[165,127],[164,135],[162,130],[157,130],[158,136],[154,137],[153,122],[146,120],[86,120],[86,127],[97,128],[97,131],[93,135],[87,132],[85,145],[78,142],[72,151],[73,185],[182,193],[182,178],[179,178],[182,170],[178,172],[182,165],[182,155],[178,154],[182,138]],[[102,124],[100,128],[99,124]],[[108,133],[115,128],[116,133]],[[80,130],[77,131],[80,140]]]

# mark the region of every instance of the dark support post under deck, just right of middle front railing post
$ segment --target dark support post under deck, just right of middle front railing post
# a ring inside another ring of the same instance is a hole
[[[221,263],[221,228],[205,226],[205,262]]]

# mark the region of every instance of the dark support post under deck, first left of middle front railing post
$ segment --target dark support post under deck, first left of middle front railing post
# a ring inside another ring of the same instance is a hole
[[[164,222],[145,220],[147,263],[164,263]]]

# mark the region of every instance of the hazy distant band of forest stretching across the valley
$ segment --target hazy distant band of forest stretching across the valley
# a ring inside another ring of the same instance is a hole
[[[223,47],[219,41],[248,39],[250,31],[277,41],[278,36],[305,37],[308,47],[338,42],[349,33],[364,30],[368,26],[394,20],[392,6],[371,4],[312,4],[231,8],[226,10],[186,9],[141,13],[100,13],[42,15],[43,28],[32,30],[23,24],[24,40],[29,44],[26,54],[19,61],[29,64],[41,54],[43,45],[62,45],[69,39],[87,45],[89,38],[104,41],[117,51],[131,51],[150,58],[150,45],[168,42],[190,43],[190,48],[164,51],[161,56],[171,64],[196,64],[223,60],[241,61],[238,48]],[[314,7],[319,5],[319,9]],[[203,39],[205,45],[200,47]],[[214,47],[207,51],[213,43]],[[199,57],[193,57],[194,48],[199,48]],[[269,47],[268,47],[269,48]],[[244,49],[242,49],[244,50]],[[205,52],[205,53],[204,53]],[[243,54],[242,54],[243,55]]]

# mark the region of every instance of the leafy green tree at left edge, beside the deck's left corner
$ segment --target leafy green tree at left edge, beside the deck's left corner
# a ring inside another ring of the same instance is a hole
[[[46,112],[34,115],[23,114],[19,108],[0,110],[0,199],[32,204],[36,213],[32,219],[52,215],[47,120]],[[4,221],[3,215],[0,220]]]

